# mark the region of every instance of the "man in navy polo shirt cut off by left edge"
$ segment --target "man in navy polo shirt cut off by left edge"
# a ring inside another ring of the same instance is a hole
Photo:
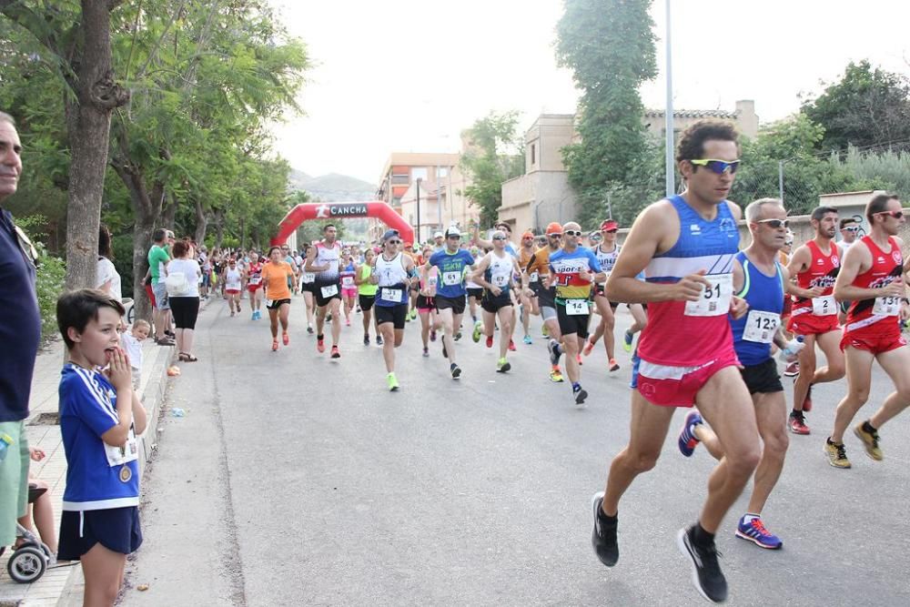
[[[12,116],[0,112],[0,546],[15,540],[15,520],[25,514],[28,495],[28,441],[25,418],[32,372],[41,339],[35,292],[35,248],[2,207],[15,194],[22,173],[22,144]]]

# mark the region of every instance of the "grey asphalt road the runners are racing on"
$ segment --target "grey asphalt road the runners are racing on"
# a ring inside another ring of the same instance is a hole
[[[539,320],[506,375],[466,331],[457,382],[439,343],[420,356],[410,323],[402,389],[389,393],[359,318],[342,330],[340,361],[317,353],[304,319],[295,298],[291,346],[272,353],[268,319],[229,318],[219,301],[201,314],[199,362],[182,365],[168,397],[186,417],[166,408],[123,604],[703,604],[675,533],[695,520],[714,462],[702,448],[682,458],[675,430],[622,501],[617,566],[591,551],[591,494],[628,439],[622,349],[613,374],[601,348],[585,359],[591,397],[577,410],[568,382],[547,379]],[[629,322],[621,310],[619,328]],[[890,389],[876,369],[869,412]],[[910,414],[882,431],[885,461],[851,435],[854,468],[835,470],[822,444],[843,392],[843,381],[816,387],[813,434],[791,435],[763,513],[784,549],[733,537],[744,499],[724,522],[730,604],[910,604]]]

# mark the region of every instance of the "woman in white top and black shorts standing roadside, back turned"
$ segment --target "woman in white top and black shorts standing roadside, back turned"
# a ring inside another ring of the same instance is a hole
[[[177,326],[177,352],[180,360],[196,362],[193,356],[193,334],[199,314],[199,277],[202,268],[191,257],[193,246],[188,240],[177,240],[171,247],[173,259],[167,264],[167,300]]]

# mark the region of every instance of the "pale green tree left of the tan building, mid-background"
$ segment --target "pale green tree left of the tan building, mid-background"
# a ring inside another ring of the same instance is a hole
[[[470,176],[470,186],[464,188],[464,195],[480,207],[480,222],[485,225],[499,214],[502,183],[524,172],[517,126],[517,111],[490,112],[465,133],[469,147],[459,162],[461,170]]]

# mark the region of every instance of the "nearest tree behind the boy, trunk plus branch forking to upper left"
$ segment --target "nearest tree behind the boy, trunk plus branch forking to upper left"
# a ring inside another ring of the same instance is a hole
[[[94,287],[98,223],[111,112],[129,92],[115,79],[111,18],[123,0],[56,3],[0,0],[0,14],[34,36],[66,83],[66,135],[71,153],[66,218],[66,286]]]

